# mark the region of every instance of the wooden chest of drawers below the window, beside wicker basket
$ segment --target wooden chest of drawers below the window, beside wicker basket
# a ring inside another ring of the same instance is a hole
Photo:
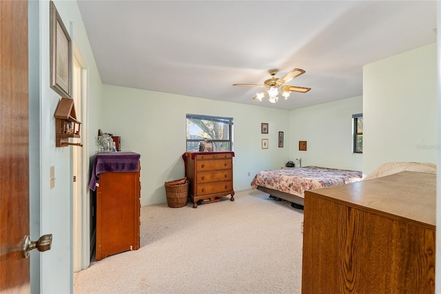
[[[183,157],[193,208],[198,204],[218,202],[220,197],[227,195],[234,201],[233,152],[187,152]]]

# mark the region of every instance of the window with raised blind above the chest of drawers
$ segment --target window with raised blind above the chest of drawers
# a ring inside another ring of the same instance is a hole
[[[199,150],[199,142],[213,143],[214,151],[232,151],[232,117],[187,115],[187,151]]]

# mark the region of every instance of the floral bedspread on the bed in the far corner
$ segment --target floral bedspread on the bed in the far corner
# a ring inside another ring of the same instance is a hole
[[[298,197],[305,197],[305,190],[349,184],[359,182],[361,179],[362,172],[355,170],[305,166],[260,171],[252,180],[251,186],[252,188],[263,186]]]

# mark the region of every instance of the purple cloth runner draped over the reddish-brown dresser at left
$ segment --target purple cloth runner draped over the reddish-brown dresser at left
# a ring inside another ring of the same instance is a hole
[[[123,153],[98,153],[92,164],[92,175],[89,188],[96,190],[96,182],[100,173],[123,173],[136,172],[139,170],[139,159],[141,155],[134,152]]]

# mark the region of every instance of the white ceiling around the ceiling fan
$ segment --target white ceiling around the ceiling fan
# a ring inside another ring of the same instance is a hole
[[[360,96],[362,66],[436,41],[436,1],[78,5],[104,84],[287,110]],[[287,85],[311,91],[271,104],[232,86],[263,84],[271,68],[306,70]]]

